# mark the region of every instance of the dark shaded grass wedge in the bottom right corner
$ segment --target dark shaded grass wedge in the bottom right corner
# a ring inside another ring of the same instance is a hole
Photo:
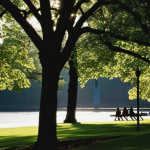
[[[97,142],[74,150],[150,150],[150,134],[126,136],[103,142]]]

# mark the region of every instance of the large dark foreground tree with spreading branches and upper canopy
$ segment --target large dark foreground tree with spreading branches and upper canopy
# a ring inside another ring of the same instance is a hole
[[[81,35],[97,34],[101,42],[99,48],[106,54],[105,48],[149,62],[146,58],[148,52],[141,50],[140,53],[123,46],[123,41],[130,41],[132,47],[134,43],[149,46],[150,12],[149,2],[146,0],[0,0],[0,5],[1,16],[9,12],[39,50],[42,89],[35,145],[55,147],[59,75]],[[42,38],[29,23],[30,15],[38,20]],[[68,39],[62,45],[66,33]],[[49,86],[52,87],[51,90]]]

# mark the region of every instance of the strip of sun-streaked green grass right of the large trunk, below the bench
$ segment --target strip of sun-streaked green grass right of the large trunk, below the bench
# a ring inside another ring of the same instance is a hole
[[[113,124],[66,124],[58,125],[57,135],[60,139],[90,138],[119,135],[139,135],[150,132],[149,124],[142,123],[137,131],[136,123]]]

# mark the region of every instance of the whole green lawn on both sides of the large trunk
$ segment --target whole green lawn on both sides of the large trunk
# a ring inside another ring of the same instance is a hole
[[[1,128],[0,150],[6,147],[32,145],[37,138],[38,127]],[[140,121],[112,121],[99,123],[58,124],[58,139],[79,139],[125,135],[74,150],[150,150],[150,119]]]

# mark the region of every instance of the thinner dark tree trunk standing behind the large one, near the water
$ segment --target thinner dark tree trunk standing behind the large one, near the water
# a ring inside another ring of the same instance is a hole
[[[68,85],[68,106],[67,115],[64,123],[75,123],[77,122],[75,112],[76,112],[76,102],[77,102],[77,88],[78,88],[78,75],[77,69],[74,66],[73,60],[69,61],[69,85]]]

